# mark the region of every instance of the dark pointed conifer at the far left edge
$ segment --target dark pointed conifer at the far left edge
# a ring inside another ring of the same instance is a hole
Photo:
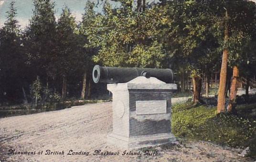
[[[20,103],[16,98],[22,98],[25,73],[25,55],[21,31],[16,19],[15,2],[10,3],[7,19],[0,29],[0,102],[12,101]],[[26,101],[26,97],[23,98]]]

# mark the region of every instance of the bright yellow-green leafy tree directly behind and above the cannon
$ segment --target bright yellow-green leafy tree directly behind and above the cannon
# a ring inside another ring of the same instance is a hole
[[[123,8],[111,9],[105,3],[104,15],[99,17],[102,23],[97,27],[102,43],[94,61],[106,66],[162,67],[166,55],[156,39],[160,14],[154,9],[141,13],[126,5]]]

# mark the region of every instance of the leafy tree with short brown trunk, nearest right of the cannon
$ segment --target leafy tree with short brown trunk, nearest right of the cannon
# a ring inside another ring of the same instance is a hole
[[[200,102],[202,73],[209,73],[208,69],[218,61],[219,43],[212,28],[216,11],[212,5],[215,7],[211,0],[174,0],[163,6],[167,10],[164,14],[167,14],[168,30],[164,29],[161,36],[167,39],[164,45],[171,54],[171,62],[174,65],[179,63],[177,67],[184,67],[186,70],[183,71],[191,73],[194,103]]]

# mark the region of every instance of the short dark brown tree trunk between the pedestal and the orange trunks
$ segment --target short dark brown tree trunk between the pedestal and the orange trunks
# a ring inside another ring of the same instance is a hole
[[[193,103],[200,102],[202,79],[199,76],[192,77],[193,82]]]

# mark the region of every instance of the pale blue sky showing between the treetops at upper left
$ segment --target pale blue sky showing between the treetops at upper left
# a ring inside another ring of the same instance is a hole
[[[6,11],[9,10],[9,6],[12,0],[0,0],[0,27],[3,26],[4,21],[6,20]],[[28,24],[29,19],[32,17],[33,2],[32,0],[14,0],[15,7],[17,9],[17,19],[21,27],[25,27]],[[82,13],[84,13],[85,3],[87,0],[54,0],[55,1],[55,10],[56,18],[60,17],[62,8],[64,5],[67,5],[72,14],[76,17],[76,20],[79,21],[82,18]],[[91,0],[95,3],[98,0]],[[101,0],[99,0],[101,2]],[[118,7],[119,3],[109,1],[113,7]],[[102,10],[103,3],[100,3],[96,8],[97,12]]]

